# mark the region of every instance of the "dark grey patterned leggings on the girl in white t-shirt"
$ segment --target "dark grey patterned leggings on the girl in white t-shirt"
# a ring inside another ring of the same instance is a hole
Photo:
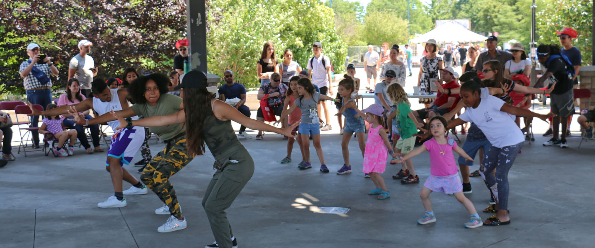
[[[522,145],[523,142],[502,148],[491,146],[484,156],[484,180],[496,202],[500,203],[498,209],[508,209],[508,193],[510,191],[508,171],[511,169],[512,163],[515,162],[516,155],[518,155]],[[494,169],[496,169],[495,178],[491,174]]]

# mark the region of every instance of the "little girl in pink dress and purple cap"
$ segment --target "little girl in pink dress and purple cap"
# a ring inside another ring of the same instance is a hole
[[[380,104],[372,104],[362,111],[359,111],[359,109],[356,109],[356,111],[358,111],[358,114],[354,115],[355,118],[363,117],[370,123],[366,150],[364,152],[364,173],[370,175],[376,187],[368,194],[380,194],[377,199],[384,200],[389,198],[390,194],[389,190],[386,189],[380,173],[383,173],[386,168],[388,155],[391,154],[393,158],[397,156],[390,149],[389,138],[382,125],[384,123],[382,117],[384,108]]]

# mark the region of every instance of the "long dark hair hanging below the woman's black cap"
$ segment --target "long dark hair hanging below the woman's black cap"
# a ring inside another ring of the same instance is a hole
[[[184,87],[184,113],[186,117],[186,147],[188,155],[193,157],[205,153],[205,125],[208,117],[213,115],[211,100],[215,94],[201,89]]]

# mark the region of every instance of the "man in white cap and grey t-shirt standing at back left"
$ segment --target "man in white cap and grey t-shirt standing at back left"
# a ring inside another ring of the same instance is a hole
[[[89,56],[93,43],[89,40],[80,40],[78,46],[79,54],[74,55],[68,64],[68,80],[73,77],[78,79],[80,83],[80,93],[89,98],[92,97],[91,82],[93,81],[93,77],[97,76],[95,61]]]

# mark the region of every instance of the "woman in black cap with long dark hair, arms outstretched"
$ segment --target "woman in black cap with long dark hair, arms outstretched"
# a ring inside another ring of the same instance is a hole
[[[183,109],[162,116],[153,116],[141,120],[120,120],[120,128],[140,126],[164,126],[183,123],[186,126],[187,151],[190,157],[203,155],[206,146],[215,158],[217,169],[205,196],[202,206],[211,224],[215,243],[206,247],[235,247],[237,240],[231,233],[225,210],[231,206],[254,172],[254,161],[248,150],[239,142],[231,127],[231,121],[245,125],[253,130],[264,130],[292,136],[292,130],[299,121],[287,128],[277,128],[250,119],[231,105],[215,98],[215,94],[206,89],[206,75],[199,71],[186,73],[177,89],[183,88]]]

